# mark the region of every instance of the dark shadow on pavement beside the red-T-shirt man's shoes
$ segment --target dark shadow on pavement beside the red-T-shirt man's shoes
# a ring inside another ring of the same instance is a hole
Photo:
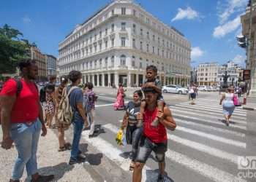
[[[67,162],[61,162],[59,165],[42,167],[38,170],[40,175],[54,175],[53,181],[59,181],[63,175],[74,168],[73,165],[68,165]],[[26,178],[26,182],[29,182],[31,178]]]

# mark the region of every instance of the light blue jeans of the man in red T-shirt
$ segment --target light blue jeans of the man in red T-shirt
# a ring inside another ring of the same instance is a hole
[[[37,173],[37,144],[42,124],[37,119],[33,124],[12,124],[10,135],[18,151],[18,158],[12,170],[12,179],[22,177],[24,167],[28,175]]]

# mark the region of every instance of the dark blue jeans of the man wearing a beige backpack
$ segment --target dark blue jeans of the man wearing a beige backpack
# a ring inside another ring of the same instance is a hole
[[[74,135],[71,149],[71,157],[76,159],[78,157],[79,143],[83,131],[83,120],[74,119],[72,124],[74,128]]]

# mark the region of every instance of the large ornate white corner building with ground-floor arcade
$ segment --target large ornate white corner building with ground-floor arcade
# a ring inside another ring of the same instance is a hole
[[[138,87],[146,66],[163,84],[189,83],[189,41],[131,0],[116,0],[77,25],[59,43],[59,77],[79,70],[83,82]]]

